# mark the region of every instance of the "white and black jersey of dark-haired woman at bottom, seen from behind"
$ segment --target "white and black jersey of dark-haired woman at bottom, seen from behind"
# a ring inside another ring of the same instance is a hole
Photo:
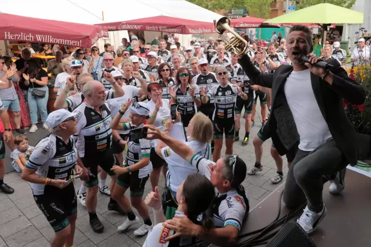
[[[175,212],[177,217],[186,217],[183,212]],[[192,236],[180,236],[170,241],[165,241],[167,237],[174,234],[174,230],[158,223],[149,230],[147,239],[143,247],[202,247],[203,240]]]

